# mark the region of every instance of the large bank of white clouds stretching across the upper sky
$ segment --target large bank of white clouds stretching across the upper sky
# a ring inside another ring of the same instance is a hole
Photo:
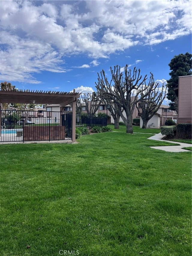
[[[83,5],[82,9],[82,1],[1,1],[1,79],[40,83],[34,73],[69,71],[62,67],[66,55],[107,58],[135,45],[150,47],[191,33],[191,1]]]

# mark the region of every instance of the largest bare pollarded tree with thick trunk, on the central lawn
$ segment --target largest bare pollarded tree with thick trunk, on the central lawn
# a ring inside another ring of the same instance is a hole
[[[151,77],[147,84],[147,75],[142,78],[140,69],[134,68],[133,72],[128,70],[128,65],[125,66],[124,72],[121,72],[120,66],[115,66],[114,70],[110,68],[111,80],[108,81],[104,70],[98,73],[98,82],[96,88],[103,98],[109,97],[118,107],[119,115],[122,117],[126,132],[133,133],[133,112],[138,101],[143,100],[153,90]],[[113,82],[113,83],[112,83]],[[148,92],[145,93],[146,88]],[[134,95],[134,97],[133,97]],[[139,99],[140,98],[140,99]],[[123,112],[125,111],[125,115]]]

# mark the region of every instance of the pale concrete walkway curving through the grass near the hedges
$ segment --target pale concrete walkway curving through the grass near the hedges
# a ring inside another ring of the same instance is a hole
[[[148,138],[148,140],[166,141],[166,142],[170,142],[170,143],[180,144],[180,146],[158,146],[158,147],[150,147],[150,148],[160,149],[160,150],[164,150],[167,152],[190,152],[189,150],[182,149],[182,148],[191,147],[192,144],[182,143],[182,142],[177,142],[177,141],[170,141],[170,140],[162,140],[163,137],[165,137],[165,135],[158,133],[158,134],[155,134],[154,136]]]

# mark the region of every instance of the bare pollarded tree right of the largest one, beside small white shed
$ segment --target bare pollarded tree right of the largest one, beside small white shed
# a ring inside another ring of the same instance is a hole
[[[167,92],[167,85],[164,86],[163,84],[162,87],[160,87],[159,83],[155,83],[153,76],[151,77],[151,83],[153,84],[153,88],[147,87],[142,92],[146,97],[142,98],[140,103],[136,105],[138,113],[143,120],[142,128],[144,129],[147,128],[148,121],[157,113]]]

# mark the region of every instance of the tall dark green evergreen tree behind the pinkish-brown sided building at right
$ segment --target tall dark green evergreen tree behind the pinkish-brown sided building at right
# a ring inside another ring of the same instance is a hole
[[[168,93],[167,99],[171,101],[170,109],[177,110],[178,99],[174,92],[174,88],[179,85],[179,77],[181,76],[189,76],[192,74],[191,72],[191,57],[190,53],[179,54],[174,56],[174,58],[170,61],[169,66],[171,72],[169,75],[171,78],[167,80]]]

